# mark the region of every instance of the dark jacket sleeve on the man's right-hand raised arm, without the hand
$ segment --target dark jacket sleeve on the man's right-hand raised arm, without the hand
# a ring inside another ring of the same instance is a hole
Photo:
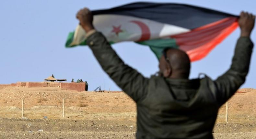
[[[240,37],[237,41],[232,64],[226,73],[214,82],[217,92],[217,101],[224,104],[245,82],[250,66],[253,43],[249,37]]]

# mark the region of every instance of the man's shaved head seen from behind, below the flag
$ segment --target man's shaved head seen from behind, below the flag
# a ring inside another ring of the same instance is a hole
[[[190,73],[190,59],[186,52],[169,48],[164,51],[160,58],[160,73],[166,78],[188,79]]]

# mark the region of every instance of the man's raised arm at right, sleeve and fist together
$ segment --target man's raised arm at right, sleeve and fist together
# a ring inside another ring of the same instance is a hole
[[[254,20],[255,16],[241,12],[239,18],[241,36],[237,41],[231,67],[226,73],[215,80],[217,100],[220,105],[224,104],[245,82],[253,48],[250,33],[254,27]]]

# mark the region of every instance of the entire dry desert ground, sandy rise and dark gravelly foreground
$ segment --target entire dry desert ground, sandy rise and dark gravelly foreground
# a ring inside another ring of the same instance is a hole
[[[228,101],[228,123],[226,107],[222,106],[213,131],[215,139],[256,139],[255,101],[255,89],[240,89]],[[0,110],[1,139],[135,138],[136,105],[120,91],[78,92],[58,87],[0,85]]]

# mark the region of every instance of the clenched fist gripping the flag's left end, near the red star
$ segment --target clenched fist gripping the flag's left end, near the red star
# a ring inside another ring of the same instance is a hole
[[[86,32],[94,29],[92,25],[93,16],[88,8],[83,8],[79,10],[76,14],[76,18],[80,21],[80,25],[84,28]]]

